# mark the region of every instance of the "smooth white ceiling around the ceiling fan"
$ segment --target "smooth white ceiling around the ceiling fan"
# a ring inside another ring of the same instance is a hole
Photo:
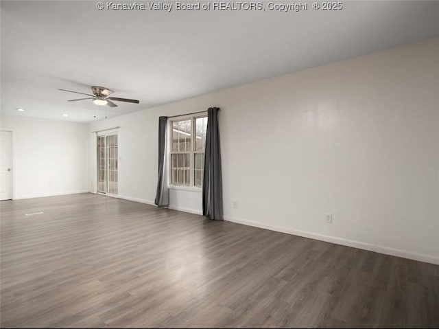
[[[309,2],[286,13],[267,2],[261,12],[165,12],[1,1],[1,111],[92,122],[439,35],[439,1],[343,1],[332,12]],[[92,85],[140,104],[67,102],[82,97],[57,90]]]

